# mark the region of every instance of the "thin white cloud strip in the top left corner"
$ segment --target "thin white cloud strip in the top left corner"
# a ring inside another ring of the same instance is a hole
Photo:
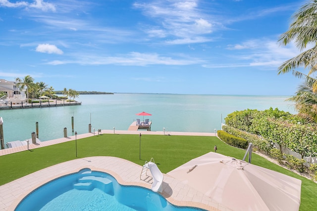
[[[43,11],[56,11],[54,4],[44,2],[43,0],[34,0],[33,3],[27,1],[17,1],[12,3],[9,0],[0,0],[0,7],[25,7],[41,9]]]

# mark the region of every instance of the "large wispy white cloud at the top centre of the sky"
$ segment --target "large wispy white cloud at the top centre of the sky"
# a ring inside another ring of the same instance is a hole
[[[212,28],[221,25],[214,22],[209,13],[199,9],[197,2],[156,0],[135,3],[134,6],[157,22],[156,31],[147,31],[149,37],[166,38],[168,41],[165,43],[169,44],[190,44],[209,41],[210,38],[207,36],[212,33]],[[202,36],[206,37],[201,39]]]

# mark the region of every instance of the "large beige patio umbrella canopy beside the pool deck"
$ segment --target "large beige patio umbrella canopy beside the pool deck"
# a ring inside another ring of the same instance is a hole
[[[235,211],[298,211],[301,180],[217,153],[167,174]]]

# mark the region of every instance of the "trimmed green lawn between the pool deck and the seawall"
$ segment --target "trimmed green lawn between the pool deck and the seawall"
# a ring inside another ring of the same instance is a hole
[[[77,140],[78,158],[113,156],[143,165],[153,157],[163,173],[179,167],[189,160],[213,151],[242,159],[245,151],[237,149],[211,136],[142,135],[141,160],[139,135],[102,134]],[[0,156],[0,185],[55,164],[76,159],[75,141]],[[289,170],[270,163],[261,156],[252,155],[252,164],[272,169],[302,180],[300,211],[317,208],[317,184]]]

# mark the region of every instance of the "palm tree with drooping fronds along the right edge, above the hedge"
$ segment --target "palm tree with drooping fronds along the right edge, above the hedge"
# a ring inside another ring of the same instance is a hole
[[[282,45],[294,41],[302,51],[308,44],[313,47],[301,52],[299,55],[285,61],[279,68],[278,74],[292,71],[298,78],[304,78],[296,92],[296,96],[289,100],[295,102],[295,108],[301,115],[308,115],[317,120],[317,80],[314,73],[317,71],[317,0],[309,0],[296,13],[292,15],[289,30],[283,33],[279,42]],[[295,69],[304,67],[309,70],[307,75]]]

